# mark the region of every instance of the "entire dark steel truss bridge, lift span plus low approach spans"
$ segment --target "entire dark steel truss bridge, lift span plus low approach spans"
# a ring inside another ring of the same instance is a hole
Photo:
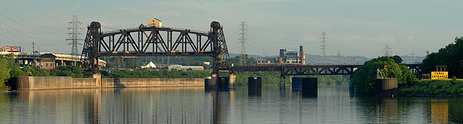
[[[281,72],[286,75],[352,75],[362,65],[276,65],[231,67],[222,25],[211,23],[208,32],[182,28],[138,28],[101,32],[100,23],[91,22],[80,61],[85,68],[99,72],[100,56],[211,56],[213,74],[233,72]],[[421,74],[418,64],[407,64],[411,72]],[[217,75],[216,75],[217,76]]]

